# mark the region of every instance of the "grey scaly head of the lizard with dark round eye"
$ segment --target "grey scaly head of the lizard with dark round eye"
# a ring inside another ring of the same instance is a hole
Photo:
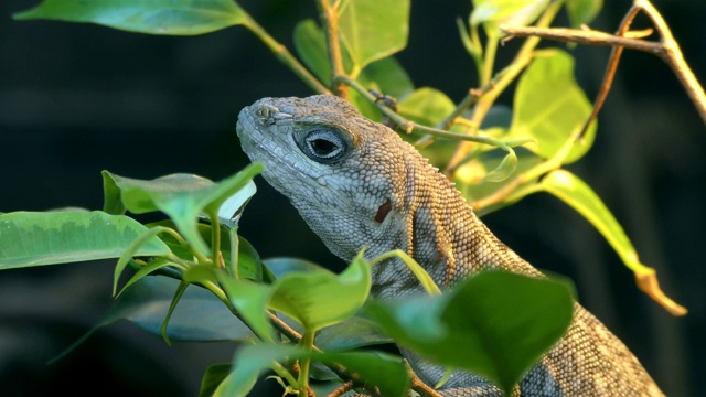
[[[240,111],[237,133],[250,160],[266,165],[265,179],[332,253],[350,260],[363,247],[372,257],[405,246],[397,208],[410,153],[389,128],[344,99],[319,95],[260,99]]]

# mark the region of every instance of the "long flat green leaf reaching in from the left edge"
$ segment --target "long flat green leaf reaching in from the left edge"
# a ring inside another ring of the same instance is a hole
[[[118,258],[147,227],[125,215],[95,212],[14,212],[0,215],[0,269]],[[169,254],[159,238],[136,253]]]

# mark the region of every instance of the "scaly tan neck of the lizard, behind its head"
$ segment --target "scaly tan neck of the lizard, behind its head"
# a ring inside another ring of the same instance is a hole
[[[501,243],[453,184],[426,162],[416,161],[409,167],[404,197],[397,198],[406,222],[406,242],[400,248],[441,289],[490,269],[541,276]],[[402,260],[389,259],[381,265],[373,268],[374,293],[399,297],[422,291]]]

